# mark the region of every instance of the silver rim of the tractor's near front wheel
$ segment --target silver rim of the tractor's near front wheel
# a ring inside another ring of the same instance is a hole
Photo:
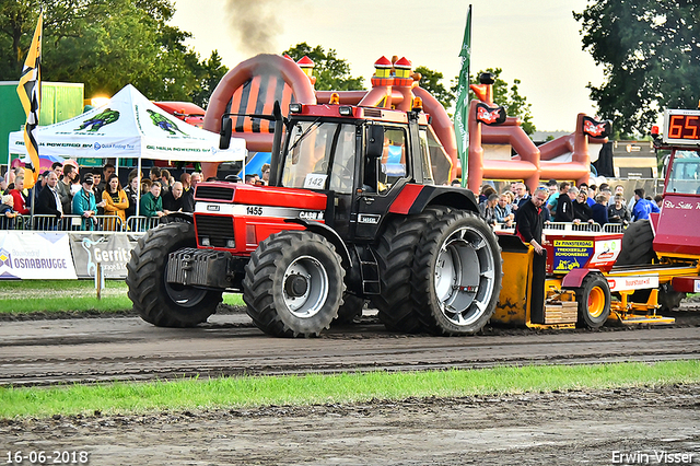
[[[293,296],[283,286],[284,305],[296,317],[313,317],[318,314],[328,298],[329,287],[326,268],[314,257],[301,256],[287,267],[282,283],[287,283],[294,276],[301,276],[306,280],[306,290],[301,296]]]

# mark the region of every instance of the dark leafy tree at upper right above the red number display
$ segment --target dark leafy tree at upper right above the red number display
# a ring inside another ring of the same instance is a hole
[[[598,0],[582,13],[583,49],[604,66],[588,84],[616,132],[645,133],[658,109],[696,108],[700,97],[700,3],[696,0]]]

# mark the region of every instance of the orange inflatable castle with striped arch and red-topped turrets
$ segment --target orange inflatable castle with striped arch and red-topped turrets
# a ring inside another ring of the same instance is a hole
[[[450,115],[442,104],[420,86],[420,74],[412,73],[412,65],[406,58],[381,57],[375,63],[370,91],[316,91],[314,63],[308,57],[294,62],[290,57],[279,55],[258,55],[229,71],[214,90],[207,114],[205,129],[219,132],[221,116],[224,113],[271,114],[275,101],[279,101],[282,113],[287,115],[289,104],[327,104],[331,95],[337,94],[341,105],[384,107],[410,110],[413,97],[423,101],[423,109],[429,114],[429,130],[442,144],[444,163],[452,164],[451,177],[462,174],[455,131]],[[587,136],[583,129],[574,135],[559,138],[539,149],[529,140],[515,118],[505,118],[501,125],[488,125],[477,118],[477,109],[500,108],[492,102],[492,86],[482,83],[474,88],[480,101],[471,102],[469,110],[469,162],[468,187],[477,191],[482,179],[524,179],[530,189],[540,178],[587,179],[590,156]],[[503,116],[505,116],[505,112]],[[587,118],[587,119],[586,119]],[[579,116],[580,128],[585,121]],[[246,140],[252,152],[269,152],[272,148],[273,123],[234,117],[234,136]],[[595,123],[594,123],[595,124]],[[599,126],[599,125],[598,125]],[[609,130],[609,126],[607,127]],[[591,135],[591,133],[588,133]],[[593,136],[593,135],[591,135]],[[606,135],[598,135],[605,137]],[[508,161],[485,160],[481,143],[510,143],[518,155]],[[573,161],[567,163],[548,162],[560,154],[573,152]],[[214,176],[217,163],[202,163],[205,177]],[[443,171],[448,173],[450,170]],[[450,179],[438,180],[448,183]]]

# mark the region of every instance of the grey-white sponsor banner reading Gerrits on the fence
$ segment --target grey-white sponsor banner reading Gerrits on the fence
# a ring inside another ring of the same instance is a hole
[[[70,248],[79,278],[94,278],[97,264],[105,278],[126,278],[136,241],[128,234],[70,233]]]

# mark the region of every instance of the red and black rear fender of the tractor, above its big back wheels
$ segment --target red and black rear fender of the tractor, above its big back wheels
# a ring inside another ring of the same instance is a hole
[[[469,189],[409,183],[396,196],[389,207],[389,212],[411,215],[422,212],[428,206],[446,206],[472,212],[479,211],[474,193]]]

